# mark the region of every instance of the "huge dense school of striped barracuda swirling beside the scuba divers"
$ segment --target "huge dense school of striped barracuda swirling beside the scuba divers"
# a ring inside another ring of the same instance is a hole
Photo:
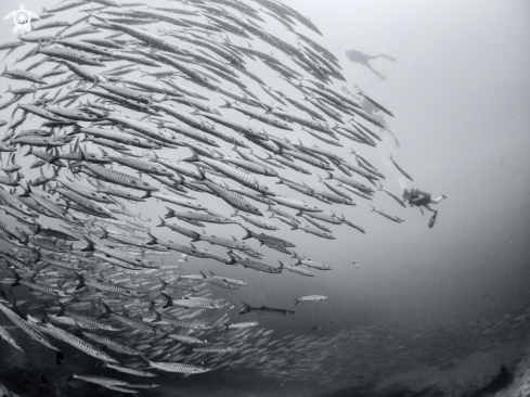
[[[77,21],[62,17],[77,8]],[[140,380],[247,366],[306,379],[305,363],[326,367],[336,341],[274,340],[272,329],[256,331],[254,321],[289,317],[295,306],[326,296],[314,291],[283,308],[244,302],[240,315],[229,316],[233,303],[209,287],[246,287],[224,277],[224,266],[271,278],[318,277],[332,267],[302,256],[282,229],[302,231],[315,244],[337,233],[347,242],[345,228],[365,232],[342,215],[356,200],[385,191],[404,206],[360,153],[375,150],[384,128],[360,100],[393,115],[364,92],[338,92],[335,85],[346,79],[318,43],[320,30],[276,0],[172,1],[166,8],[75,0],[40,18],[51,22],[38,21],[30,35],[0,44],[1,77],[12,82],[13,95],[0,103],[0,115],[11,117],[2,121],[0,144],[7,159],[1,316],[57,356],[56,340]],[[272,22],[287,29],[286,37],[267,29]],[[16,62],[8,67],[14,51]],[[26,60],[35,62],[18,69]],[[253,72],[263,67],[274,78]],[[284,92],[293,89],[296,94]],[[247,117],[251,123],[242,121]],[[24,129],[30,119],[40,127]],[[346,155],[338,150],[348,148]],[[30,162],[23,165],[23,156]],[[292,191],[294,198],[281,193]],[[212,202],[227,212],[214,210]],[[137,203],[152,203],[157,217],[135,213]],[[237,225],[241,233],[208,234],[209,225]],[[285,260],[268,261],[261,252],[268,248]],[[212,270],[181,270],[194,260],[211,262]],[[23,305],[15,298],[21,289],[30,294]],[[22,350],[2,326],[0,337]],[[290,358],[283,354],[287,347]],[[324,350],[308,361],[308,351]],[[88,374],[69,381],[122,393],[156,386]]]

